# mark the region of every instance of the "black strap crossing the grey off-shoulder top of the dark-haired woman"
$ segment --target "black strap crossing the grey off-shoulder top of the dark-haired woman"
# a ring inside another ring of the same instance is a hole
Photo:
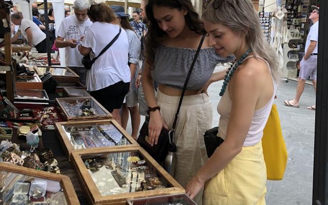
[[[175,127],[176,127],[176,122],[178,120],[178,116],[179,116],[179,112],[180,112],[180,108],[181,108],[183,96],[185,95],[185,92],[186,92],[186,89],[187,89],[187,85],[188,85],[188,81],[189,81],[191,72],[193,71],[194,65],[196,63],[197,56],[198,56],[198,54],[200,52],[201,46],[202,46],[202,44],[204,42],[204,38],[205,38],[205,34],[203,34],[202,37],[201,37],[201,40],[200,40],[199,46],[197,48],[196,54],[194,56],[193,62],[191,64],[191,66],[190,66],[190,69],[189,69],[189,72],[188,72],[188,75],[187,75],[187,78],[186,78],[186,81],[185,81],[185,85],[183,85],[183,90],[182,90],[182,93],[181,93],[181,96],[180,96],[180,101],[179,101],[178,109],[177,109],[176,114],[175,114],[175,118],[174,118],[173,125],[172,125],[172,130],[171,130],[171,134],[170,134],[170,144],[173,143],[174,131],[175,131]]]

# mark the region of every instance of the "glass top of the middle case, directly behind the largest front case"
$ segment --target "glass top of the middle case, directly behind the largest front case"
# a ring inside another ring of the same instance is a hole
[[[93,125],[63,125],[74,149],[131,145],[132,143],[110,122]]]

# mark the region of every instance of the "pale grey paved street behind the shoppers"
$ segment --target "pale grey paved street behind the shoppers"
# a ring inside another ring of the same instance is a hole
[[[216,70],[219,69],[220,67],[217,67]],[[306,85],[300,108],[284,106],[285,99],[292,99],[295,96],[296,85],[296,81],[290,80],[289,83],[285,83],[282,80],[277,93],[278,98],[275,99],[289,156],[284,179],[268,181],[268,205],[312,204],[315,112],[306,110],[306,107],[315,104],[315,95],[313,86]],[[212,127],[218,125],[219,115],[216,107],[220,100],[221,86],[222,81],[212,84],[208,90],[214,114]],[[144,118],[141,118],[141,124],[142,122]],[[127,130],[131,133],[130,121]]]

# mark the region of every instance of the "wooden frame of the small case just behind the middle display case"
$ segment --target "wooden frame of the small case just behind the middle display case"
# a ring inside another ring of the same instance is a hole
[[[92,115],[92,116],[78,116],[78,117],[71,117],[69,116],[69,114],[67,113],[67,111],[65,110],[64,106],[61,105],[60,101],[65,101],[65,100],[77,100],[77,99],[91,99],[92,101],[94,101],[94,103],[99,106],[99,108],[101,110],[103,110],[106,115]],[[104,108],[102,105],[100,105],[100,103],[98,103],[98,101],[93,98],[92,96],[90,97],[60,97],[60,98],[56,98],[56,103],[60,108],[61,111],[61,115],[63,116],[63,118],[66,121],[80,121],[80,120],[94,120],[94,119],[112,119],[112,114],[110,112],[108,112],[106,110],[106,108]]]

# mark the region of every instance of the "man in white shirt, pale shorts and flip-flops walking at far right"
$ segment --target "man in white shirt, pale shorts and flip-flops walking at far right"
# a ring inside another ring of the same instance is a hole
[[[318,61],[318,33],[319,33],[319,7],[312,6],[313,11],[309,19],[313,22],[305,43],[305,55],[300,63],[298,83],[295,98],[285,100],[285,106],[299,108],[299,100],[305,88],[305,82],[310,77],[314,91],[317,88],[317,61]],[[307,107],[308,110],[316,110],[316,106]]]

